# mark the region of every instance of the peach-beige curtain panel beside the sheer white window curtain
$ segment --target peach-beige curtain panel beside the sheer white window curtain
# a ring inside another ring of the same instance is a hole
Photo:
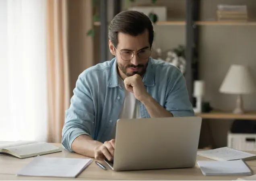
[[[67,0],[47,0],[48,142],[61,142],[70,104]]]

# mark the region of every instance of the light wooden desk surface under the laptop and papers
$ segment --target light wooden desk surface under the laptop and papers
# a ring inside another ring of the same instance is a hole
[[[54,144],[60,147],[60,144]],[[47,157],[64,158],[86,158],[76,153],[66,151],[43,155]],[[147,171],[123,171],[115,172],[108,168],[107,171],[100,169],[95,162],[92,162],[85,171],[76,179],[58,177],[23,177],[16,176],[16,173],[33,158],[19,159],[12,156],[0,156],[0,180],[235,180],[239,176],[204,176],[196,166],[190,169],[163,169]],[[198,156],[197,160],[209,160]],[[101,161],[105,166],[105,162]],[[256,173],[256,160],[248,161],[248,165]],[[242,177],[242,176],[241,176]]]

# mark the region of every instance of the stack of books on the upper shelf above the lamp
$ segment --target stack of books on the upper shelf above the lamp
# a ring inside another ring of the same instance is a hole
[[[248,21],[246,5],[217,5],[218,21]]]

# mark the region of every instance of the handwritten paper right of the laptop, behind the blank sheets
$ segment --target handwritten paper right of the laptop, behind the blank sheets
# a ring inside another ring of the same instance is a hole
[[[253,160],[256,158],[255,154],[235,150],[229,147],[217,148],[213,150],[198,151],[197,155],[210,158],[217,161],[228,160]]]

